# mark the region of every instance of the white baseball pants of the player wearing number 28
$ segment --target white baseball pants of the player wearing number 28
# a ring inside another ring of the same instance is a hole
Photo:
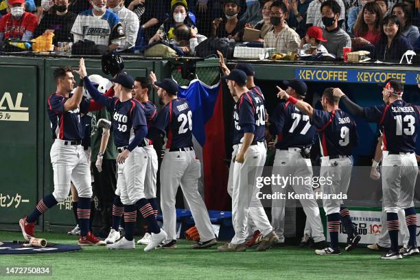
[[[161,209],[163,213],[163,229],[167,240],[176,240],[176,191],[180,186],[191,209],[196,223],[200,241],[207,242],[215,238],[209,213],[202,197],[198,193],[198,178],[200,178],[200,161],[196,159],[194,150],[169,152],[161,165]]]

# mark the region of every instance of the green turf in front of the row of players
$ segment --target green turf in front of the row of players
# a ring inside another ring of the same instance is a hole
[[[75,237],[42,233],[51,242],[75,244]],[[0,232],[1,241],[21,240],[20,233]],[[382,260],[379,253],[356,249],[342,255],[317,256],[294,246],[266,252],[219,253],[192,250],[178,242],[176,250],[107,250],[85,247],[77,253],[0,255],[0,266],[51,266],[52,276],[35,279],[419,279],[420,257]],[[222,243],[221,243],[222,244]],[[0,279],[5,277],[0,276]],[[7,277],[28,279],[30,277]]]

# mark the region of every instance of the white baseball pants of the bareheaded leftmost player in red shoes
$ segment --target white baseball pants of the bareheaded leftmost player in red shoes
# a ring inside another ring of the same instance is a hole
[[[54,171],[53,196],[58,202],[69,196],[73,182],[80,198],[92,197],[91,170],[82,145],[65,145],[70,141],[56,139],[49,156]]]

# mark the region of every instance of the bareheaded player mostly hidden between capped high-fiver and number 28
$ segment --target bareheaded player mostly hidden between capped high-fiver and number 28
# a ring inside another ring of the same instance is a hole
[[[148,78],[136,77],[135,84],[132,87],[132,97],[139,100],[144,106],[144,113],[146,121],[148,122],[148,128],[152,126],[152,122],[156,118],[157,110],[156,106],[149,100],[149,93],[152,90],[152,86]],[[149,139],[148,145],[143,147],[145,154],[148,155],[145,171],[145,180],[144,180],[144,196],[150,202],[150,205],[153,207],[154,215],[157,216],[158,213],[158,204],[156,198],[156,176],[158,170],[158,158],[156,150],[153,148],[153,141],[148,133],[147,138]],[[148,245],[150,242],[150,230],[145,233],[141,240],[137,241],[137,244]]]

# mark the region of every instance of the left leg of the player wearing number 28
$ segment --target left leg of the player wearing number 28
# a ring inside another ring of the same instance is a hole
[[[181,152],[167,150],[163,156],[160,173],[161,209],[163,230],[167,233],[167,239],[162,248],[176,248],[176,191],[187,165],[185,156],[182,156]]]

